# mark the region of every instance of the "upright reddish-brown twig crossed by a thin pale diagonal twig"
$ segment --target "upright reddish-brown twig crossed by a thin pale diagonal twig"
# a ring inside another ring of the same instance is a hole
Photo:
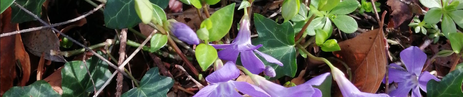
[[[127,45],[127,29],[122,29],[120,31],[120,47],[119,47],[119,63],[118,63],[119,66],[122,65],[122,61],[124,61],[125,59],[125,46],[126,45]],[[115,94],[116,97],[120,97],[122,94],[122,81],[123,81],[122,78],[123,78],[122,74],[119,72],[116,78],[116,81],[117,81],[116,94]]]

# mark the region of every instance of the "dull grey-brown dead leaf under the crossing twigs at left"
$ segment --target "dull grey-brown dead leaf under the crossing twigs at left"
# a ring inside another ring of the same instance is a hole
[[[46,10],[42,9],[42,19],[50,24]],[[44,26],[44,24],[38,21],[30,22],[30,27],[39,27]],[[60,51],[59,50],[59,39],[56,37],[56,34],[51,29],[40,29],[25,33],[23,36],[24,45],[27,47],[35,56],[41,56],[42,52],[45,52],[45,59],[56,62],[67,62],[63,56],[52,56],[50,55],[50,50]]]

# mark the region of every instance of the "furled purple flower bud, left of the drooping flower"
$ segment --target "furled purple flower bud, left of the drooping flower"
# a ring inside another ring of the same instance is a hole
[[[200,40],[193,29],[188,27],[185,23],[170,22],[170,31],[181,41],[184,41],[190,45],[200,44]]]

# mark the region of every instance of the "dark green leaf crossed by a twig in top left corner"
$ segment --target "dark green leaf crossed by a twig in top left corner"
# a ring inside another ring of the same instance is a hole
[[[42,14],[41,14],[42,13],[42,4],[44,2],[45,2],[45,0],[17,0],[16,1],[16,3],[23,6],[25,9],[27,9],[28,11],[31,11],[32,13],[37,15],[37,17],[42,16]],[[1,3],[2,3],[1,6],[5,7],[5,6],[3,6],[4,5],[3,3],[9,3],[9,2],[4,2],[2,0]],[[8,6],[6,6],[6,8],[8,8]],[[27,21],[37,20],[34,17],[32,17],[31,15],[27,14],[26,11],[22,10],[18,6],[11,6],[11,11],[12,11],[12,13],[11,13],[11,22],[12,23],[23,23],[23,22],[27,22]]]

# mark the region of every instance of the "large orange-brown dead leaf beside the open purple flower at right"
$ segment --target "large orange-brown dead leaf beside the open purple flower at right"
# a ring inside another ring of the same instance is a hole
[[[360,91],[375,93],[384,77],[387,58],[382,29],[375,29],[339,42],[341,51],[333,54],[352,69],[354,83]]]

